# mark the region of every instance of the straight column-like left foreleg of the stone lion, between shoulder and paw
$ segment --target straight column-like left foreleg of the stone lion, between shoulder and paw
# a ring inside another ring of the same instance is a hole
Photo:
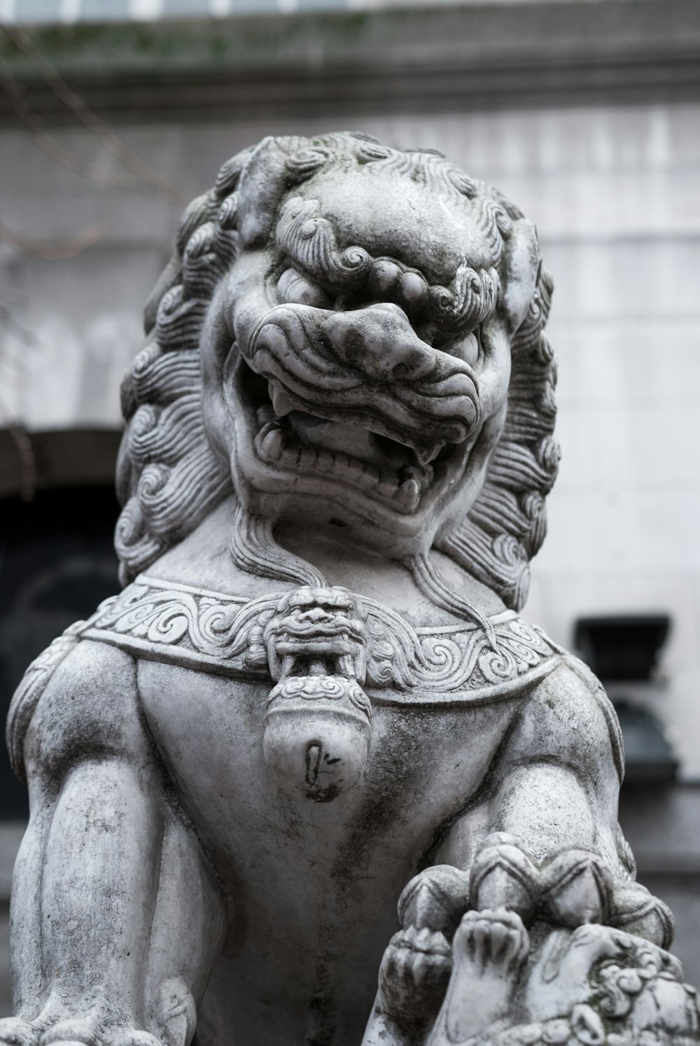
[[[47,1020],[143,1026],[164,831],[158,793],[153,771],[117,758],[81,764],[65,779],[36,899]]]

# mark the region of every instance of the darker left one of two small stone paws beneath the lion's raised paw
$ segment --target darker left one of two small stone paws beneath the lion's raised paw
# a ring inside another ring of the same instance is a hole
[[[450,978],[445,934],[408,927],[394,934],[379,972],[383,1011],[400,1025],[425,1024],[437,1013]]]

